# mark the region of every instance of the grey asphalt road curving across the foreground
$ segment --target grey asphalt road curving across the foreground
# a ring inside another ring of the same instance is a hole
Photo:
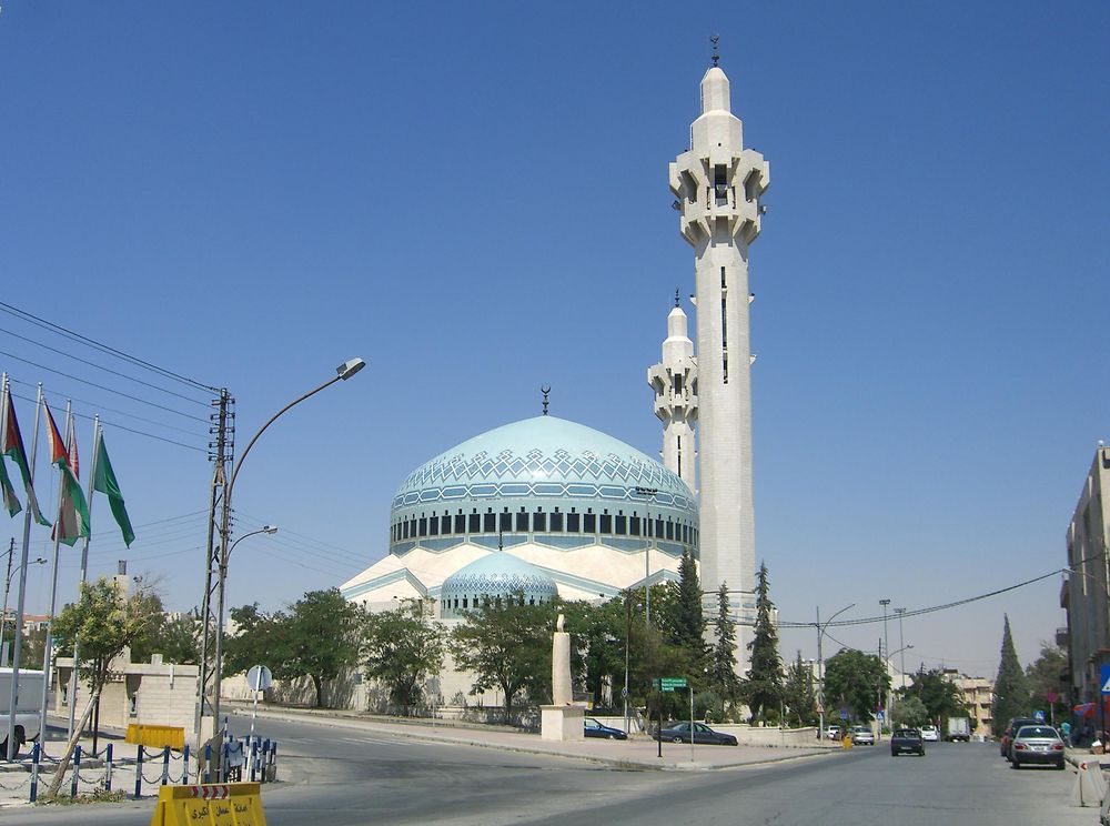
[[[233,722],[245,731],[249,722]],[[1015,826],[1094,824],[1070,808],[1074,775],[1015,772],[993,744],[930,744],[891,758],[880,744],[847,754],[717,772],[616,770],[577,760],[421,743],[315,722],[260,721],[296,780],[264,787],[270,826]],[[6,823],[150,823],[153,803],[0,812]],[[78,812],[80,813],[78,815]],[[75,817],[77,816],[77,817]]]

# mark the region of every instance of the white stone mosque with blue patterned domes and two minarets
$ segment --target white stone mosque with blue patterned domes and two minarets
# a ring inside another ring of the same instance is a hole
[[[476,435],[410,473],[393,497],[389,554],[341,586],[347,600],[384,611],[430,598],[450,626],[486,597],[605,601],[677,580],[690,550],[707,610],[716,612],[727,583],[745,671],[755,611],[747,261],[769,168],[743,147],[728,78],[716,54],[713,63],[690,149],[669,170],[695,252],[697,354],[676,298],[662,361],[647,371],[663,461],[547,415],[545,402],[543,415]],[[470,688],[454,676],[447,685]]]

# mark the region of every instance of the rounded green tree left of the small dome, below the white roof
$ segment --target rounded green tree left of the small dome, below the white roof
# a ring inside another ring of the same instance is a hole
[[[420,702],[422,687],[443,669],[444,633],[428,600],[403,600],[393,611],[366,614],[362,623],[362,667],[406,709]]]

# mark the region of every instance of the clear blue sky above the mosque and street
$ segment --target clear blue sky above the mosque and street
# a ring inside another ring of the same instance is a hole
[[[408,471],[537,414],[542,384],[553,413],[657,451],[645,370],[693,289],[667,163],[718,31],[771,163],[755,479],[781,617],[925,608],[1062,566],[1110,435],[1110,7],[615,6],[6,0],[0,301],[229,387],[240,450],[366,359],[236,486],[240,532],[282,533],[236,550],[231,604],[336,585],[385,552]],[[199,603],[208,395],[8,313],[0,350],[18,394],[42,381],[109,422],[140,538],[125,552],[98,496],[92,573],[127,558],[172,607]],[[63,600],[75,572],[65,552]],[[1063,624],[1059,586],[908,620],[907,665],[991,676],[1003,612],[1028,662]],[[835,632],[869,651],[880,634]],[[813,629],[784,632],[798,647],[815,655]]]

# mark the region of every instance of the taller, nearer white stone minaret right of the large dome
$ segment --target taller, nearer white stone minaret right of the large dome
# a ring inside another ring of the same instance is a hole
[[[759,197],[770,168],[761,154],[744,149],[743,125],[730,111],[728,78],[716,53],[713,63],[702,78],[702,114],[690,125],[690,150],[670,164],[670,191],[683,238],[694,248],[702,587],[715,592],[728,583],[733,615],[747,618],[754,615],[755,587],[748,245],[759,235]],[[715,610],[712,596],[706,602]],[[745,651],[740,642],[740,672]]]

